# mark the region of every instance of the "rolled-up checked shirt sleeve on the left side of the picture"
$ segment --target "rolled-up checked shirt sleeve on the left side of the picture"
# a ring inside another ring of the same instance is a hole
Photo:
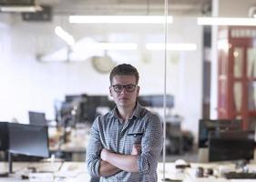
[[[91,177],[99,177],[100,151],[102,149],[99,130],[99,117],[94,121],[87,145],[87,169]]]

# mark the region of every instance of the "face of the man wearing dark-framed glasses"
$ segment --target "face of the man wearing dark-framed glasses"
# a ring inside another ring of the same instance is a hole
[[[109,92],[117,106],[134,106],[139,93],[139,86],[136,86],[136,77],[114,76]]]

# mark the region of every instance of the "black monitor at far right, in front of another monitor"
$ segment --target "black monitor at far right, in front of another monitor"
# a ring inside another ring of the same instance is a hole
[[[253,131],[210,132],[209,161],[250,160],[253,153]]]

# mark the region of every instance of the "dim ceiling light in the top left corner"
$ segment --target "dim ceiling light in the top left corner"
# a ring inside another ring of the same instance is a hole
[[[37,12],[42,11],[43,8],[40,5],[10,5],[0,6],[2,12]]]

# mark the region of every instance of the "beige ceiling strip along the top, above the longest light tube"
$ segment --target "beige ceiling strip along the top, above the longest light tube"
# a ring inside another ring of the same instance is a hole
[[[37,0],[55,15],[163,15],[164,0]],[[169,15],[210,13],[211,0],[169,0]]]

